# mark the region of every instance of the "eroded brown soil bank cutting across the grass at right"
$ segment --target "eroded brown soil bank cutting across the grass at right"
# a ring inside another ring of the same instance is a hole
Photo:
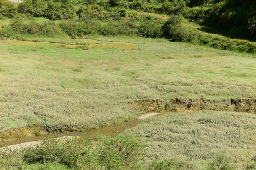
[[[137,100],[127,102],[131,110],[145,110],[150,112],[161,111],[189,111],[189,110],[215,110],[256,113],[256,99],[181,99],[174,98],[165,102],[156,100]]]

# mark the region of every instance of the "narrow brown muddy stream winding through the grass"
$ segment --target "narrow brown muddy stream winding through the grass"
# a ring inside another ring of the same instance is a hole
[[[124,123],[119,123],[117,125],[113,125],[110,127],[102,127],[99,129],[95,130],[90,130],[90,131],[85,131],[85,132],[72,132],[72,133],[56,133],[56,134],[46,134],[46,135],[40,135],[40,136],[27,136],[22,139],[18,139],[15,141],[9,141],[9,142],[4,142],[4,146],[10,146],[10,145],[15,145],[15,144],[21,144],[25,142],[32,142],[32,141],[38,141],[38,140],[43,140],[46,136],[51,137],[51,136],[56,136],[56,137],[64,137],[64,136],[82,136],[85,139],[90,138],[91,136],[95,134],[104,134],[104,135],[110,135],[113,136],[116,134],[116,132],[123,132],[126,129],[135,127],[136,125],[142,123],[143,120],[132,120],[129,122],[124,122]]]

